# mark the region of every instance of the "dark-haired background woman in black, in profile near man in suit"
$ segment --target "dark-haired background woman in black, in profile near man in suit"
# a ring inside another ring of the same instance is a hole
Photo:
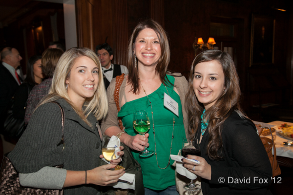
[[[32,56],[26,66],[26,78],[15,92],[13,116],[16,119],[24,119],[26,101],[32,88],[40,84],[44,78],[42,74],[42,56]]]

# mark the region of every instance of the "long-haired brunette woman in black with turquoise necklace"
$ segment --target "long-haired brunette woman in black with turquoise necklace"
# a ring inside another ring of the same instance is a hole
[[[190,136],[200,161],[184,167],[200,176],[204,195],[271,194],[272,167],[251,120],[240,107],[239,78],[230,55],[208,50],[193,61],[187,94]]]

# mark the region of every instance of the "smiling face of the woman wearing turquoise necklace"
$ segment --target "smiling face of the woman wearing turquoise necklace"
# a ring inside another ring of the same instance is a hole
[[[222,65],[216,61],[198,63],[194,67],[193,91],[197,100],[208,110],[225,90],[225,75]]]

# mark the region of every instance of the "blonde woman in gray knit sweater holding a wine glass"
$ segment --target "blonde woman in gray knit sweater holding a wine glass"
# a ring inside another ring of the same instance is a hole
[[[48,96],[32,115],[15,149],[8,155],[23,186],[62,189],[64,194],[97,195],[99,186],[118,181],[124,169],[99,166],[101,139],[97,120],[107,113],[101,64],[87,48],[71,48],[59,60]],[[64,110],[64,143],[62,115]],[[121,148],[123,149],[123,147]],[[124,154],[119,152],[120,156]],[[53,166],[63,164],[63,169]]]

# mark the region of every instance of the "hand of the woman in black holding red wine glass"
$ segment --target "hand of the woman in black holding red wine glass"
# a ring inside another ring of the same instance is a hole
[[[202,178],[211,179],[211,167],[209,163],[205,160],[205,158],[201,156],[193,156],[193,155],[188,155],[186,156],[189,159],[194,159],[198,160],[200,163],[197,164],[195,162],[191,162],[190,160],[183,159],[182,162],[184,162],[183,166],[188,169],[191,173],[200,176]],[[193,169],[194,167],[194,170]]]

